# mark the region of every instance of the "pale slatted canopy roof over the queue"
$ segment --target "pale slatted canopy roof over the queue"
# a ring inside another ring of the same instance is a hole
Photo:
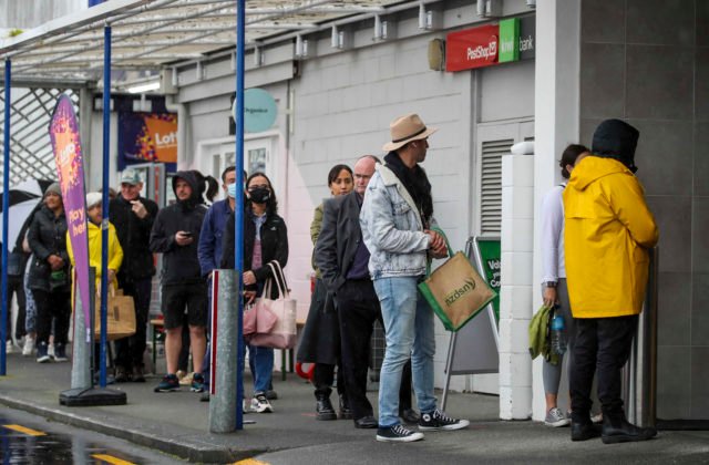
[[[362,13],[386,13],[401,0],[248,0],[246,44]],[[236,45],[235,0],[111,0],[0,40],[12,81],[86,82],[103,72],[104,27],[112,27],[113,70],[157,71]],[[2,75],[0,75],[0,80]]]

